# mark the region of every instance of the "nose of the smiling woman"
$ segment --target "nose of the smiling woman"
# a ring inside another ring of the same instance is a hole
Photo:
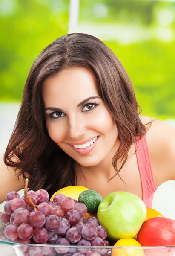
[[[72,140],[78,140],[86,133],[86,125],[83,120],[69,120],[69,136]]]

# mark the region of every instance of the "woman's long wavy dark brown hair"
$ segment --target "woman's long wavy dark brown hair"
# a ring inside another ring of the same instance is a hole
[[[126,70],[102,41],[91,35],[73,33],[49,44],[34,60],[26,80],[14,131],[4,154],[16,175],[29,177],[29,189],[58,189],[76,185],[75,160],[49,137],[43,113],[43,81],[61,70],[87,67],[95,74],[98,94],[118,128],[120,146],[112,159],[119,175],[135,137],[146,133],[135,92]],[[117,160],[122,166],[117,169]],[[120,175],[119,175],[120,176]]]

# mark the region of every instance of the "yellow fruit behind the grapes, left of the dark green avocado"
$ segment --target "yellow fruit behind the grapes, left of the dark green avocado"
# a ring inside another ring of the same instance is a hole
[[[55,195],[61,193],[63,195],[66,195],[67,197],[71,197],[72,199],[76,199],[78,201],[78,196],[80,195],[81,192],[83,192],[85,190],[87,190],[87,188],[83,187],[83,186],[67,186],[67,187],[55,192],[52,195],[50,200],[53,201],[53,198],[55,197]]]

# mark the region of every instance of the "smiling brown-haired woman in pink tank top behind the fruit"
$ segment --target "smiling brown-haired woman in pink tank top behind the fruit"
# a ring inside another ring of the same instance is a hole
[[[79,185],[105,197],[138,195],[151,207],[157,187],[175,180],[175,128],[141,116],[131,81],[99,39],[69,34],[34,61],[0,164],[0,202],[24,187]]]

